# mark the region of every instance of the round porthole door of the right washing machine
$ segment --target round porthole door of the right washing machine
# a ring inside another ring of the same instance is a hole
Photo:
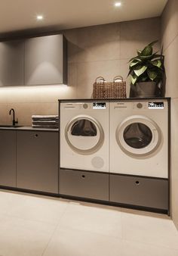
[[[148,156],[156,151],[161,143],[161,130],[148,117],[127,117],[118,125],[115,133],[120,148],[131,156]]]

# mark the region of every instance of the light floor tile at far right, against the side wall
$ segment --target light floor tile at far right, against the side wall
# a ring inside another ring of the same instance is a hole
[[[178,250],[178,232],[173,221],[160,215],[123,210],[122,238]]]

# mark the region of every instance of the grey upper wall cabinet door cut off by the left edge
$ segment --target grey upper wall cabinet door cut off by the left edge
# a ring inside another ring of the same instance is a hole
[[[24,42],[0,42],[0,86],[23,85]]]

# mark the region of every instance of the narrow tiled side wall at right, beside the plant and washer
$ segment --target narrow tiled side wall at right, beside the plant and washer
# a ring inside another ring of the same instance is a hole
[[[172,98],[171,108],[171,198],[172,217],[178,228],[178,1],[169,0],[161,17],[161,33],[164,44],[167,72],[166,95]]]

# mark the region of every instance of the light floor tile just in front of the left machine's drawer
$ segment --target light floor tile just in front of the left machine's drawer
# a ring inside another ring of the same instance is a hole
[[[121,238],[121,211],[96,204],[69,204],[59,226]]]

